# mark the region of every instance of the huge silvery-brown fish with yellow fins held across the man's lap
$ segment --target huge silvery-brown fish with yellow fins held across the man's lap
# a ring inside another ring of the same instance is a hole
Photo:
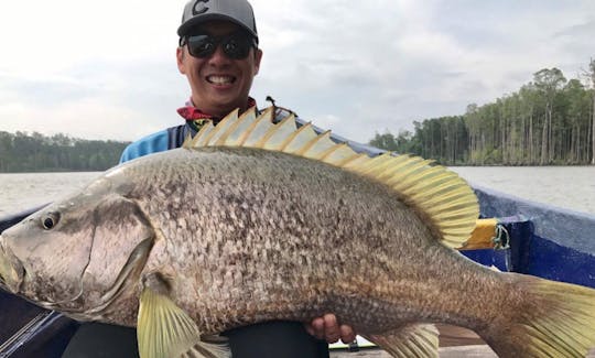
[[[470,328],[502,357],[595,344],[593,290],[448,247],[478,216],[456,174],[270,117],[234,112],[7,230],[2,285],[76,319],[137,326],[141,357],[226,357],[225,329],[327,312],[394,357],[436,357],[432,323]]]

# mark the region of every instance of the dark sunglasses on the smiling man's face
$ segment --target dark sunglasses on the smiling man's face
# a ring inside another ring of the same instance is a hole
[[[206,58],[212,56],[221,45],[224,54],[232,59],[244,59],[248,57],[251,47],[257,47],[256,39],[239,31],[225,36],[213,36],[209,34],[193,34],[180,39],[180,46],[188,45],[192,56]]]

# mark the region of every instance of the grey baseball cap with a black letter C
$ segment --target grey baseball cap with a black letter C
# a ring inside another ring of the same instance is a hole
[[[210,20],[230,21],[247,30],[258,42],[255,12],[246,0],[191,0],[184,7],[182,24],[177,35],[184,36],[188,30]]]

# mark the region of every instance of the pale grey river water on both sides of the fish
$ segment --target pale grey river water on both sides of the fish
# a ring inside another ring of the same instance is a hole
[[[474,185],[595,215],[595,166],[454,166]],[[101,173],[0,174],[0,217],[50,203]]]

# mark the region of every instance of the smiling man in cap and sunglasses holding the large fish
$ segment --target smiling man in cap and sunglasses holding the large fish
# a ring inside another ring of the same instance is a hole
[[[256,106],[249,97],[262,51],[251,6],[246,0],[191,0],[177,29],[177,68],[186,76],[191,98],[178,113],[185,124],[169,128],[130,144],[121,162],[178,148],[205,121],[215,124],[236,108]],[[307,333],[306,333],[307,332]],[[263,323],[225,333],[234,357],[328,357],[326,343],[355,339],[351,327],[339,325],[333,314],[311,323]],[[109,343],[120,339],[118,349]],[[127,357],[136,354],[134,329],[101,324],[84,325],[64,357]],[[89,346],[93,347],[89,349]],[[110,351],[108,351],[110,350]],[[126,352],[125,352],[126,351]],[[100,355],[98,355],[100,352]]]

